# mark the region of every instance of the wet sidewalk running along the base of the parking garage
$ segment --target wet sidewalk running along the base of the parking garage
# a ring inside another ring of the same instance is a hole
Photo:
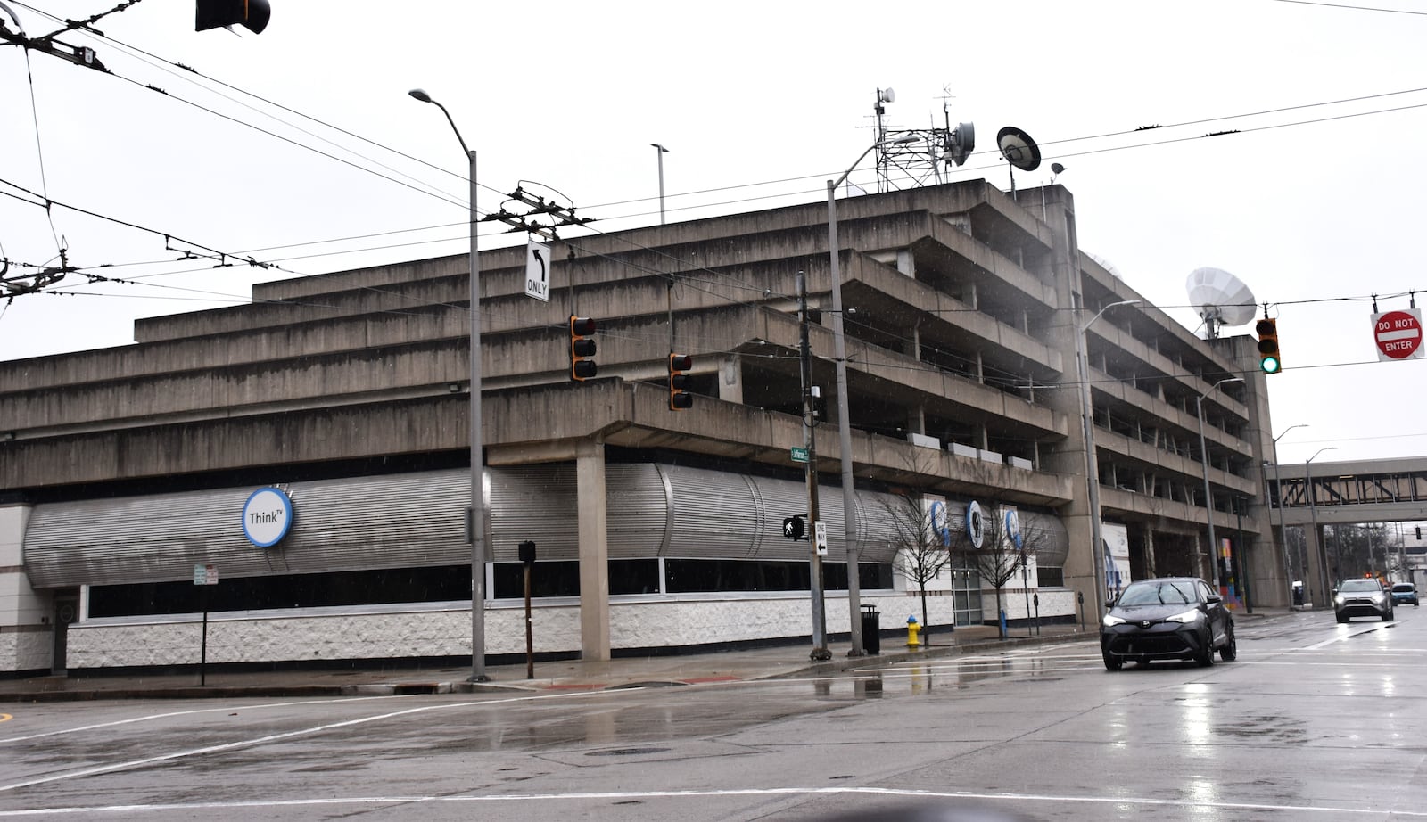
[[[1236,619],[1287,615],[1287,608],[1236,614]],[[786,679],[823,676],[852,668],[893,665],[916,658],[940,658],[989,652],[1022,645],[1095,641],[1096,626],[1042,625],[1039,636],[1027,636],[1025,625],[996,636],[993,625],[945,628],[932,644],[908,648],[906,635],[883,635],[882,652],[849,658],[848,644],[832,644],[832,659],[813,662],[808,645],[776,645],[736,651],[712,651],[665,656],[628,656],[611,661],[559,659],[535,662],[535,678],[525,678],[525,662],[487,665],[489,682],[467,682],[469,665],[440,668],[347,668],[313,671],[208,671],[198,685],[197,669],[170,674],[86,674],[81,676],[31,676],[0,679],[0,704],[57,702],[87,699],[186,699],[211,696],[381,696],[405,694],[472,694],[501,691],[602,691],[609,688],[678,686],[706,682]]]

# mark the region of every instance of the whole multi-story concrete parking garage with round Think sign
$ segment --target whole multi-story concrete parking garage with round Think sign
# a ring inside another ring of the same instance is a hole
[[[973,502],[1039,535],[1000,597],[955,562],[930,579],[933,628],[997,602],[1013,624],[1093,621],[1100,591],[1152,574],[1287,601],[1251,340],[1197,338],[1082,254],[1060,186],[841,201],[845,497],[826,220],[818,203],[562,240],[548,303],[525,294],[524,245],[481,254],[488,655],[524,652],[527,541],[538,654],[813,635],[812,547],[783,534],[809,512],[801,277],[831,636],[853,624],[849,548],[880,628],[922,618],[906,501],[942,512],[940,537]],[[133,345],[0,362],[0,669],[194,664],[204,612],[210,662],[469,656],[467,268],[267,283],[141,320]],[[585,381],[572,315],[596,327]],[[671,352],[691,358],[685,410]]]

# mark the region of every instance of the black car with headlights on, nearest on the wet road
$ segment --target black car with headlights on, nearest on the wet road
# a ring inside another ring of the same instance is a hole
[[[1214,651],[1224,662],[1239,655],[1234,618],[1223,598],[1194,577],[1130,582],[1100,622],[1100,655],[1109,671],[1153,659],[1213,665]]]

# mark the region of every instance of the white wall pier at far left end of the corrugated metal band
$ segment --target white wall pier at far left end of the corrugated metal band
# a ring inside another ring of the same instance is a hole
[[[0,674],[46,672],[53,664],[50,599],[30,588],[24,574],[29,519],[29,505],[0,505]]]

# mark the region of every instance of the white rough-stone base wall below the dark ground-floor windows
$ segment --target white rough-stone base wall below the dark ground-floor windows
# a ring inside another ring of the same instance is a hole
[[[1052,616],[1055,605],[1052,601],[1062,598],[1069,599],[1072,608],[1060,608],[1059,614],[1073,614],[1075,594],[1067,591],[1043,594],[1040,615]],[[922,607],[915,594],[868,595],[862,598],[862,604],[878,608],[882,629],[905,628],[909,614],[922,618]],[[993,616],[993,611],[992,599],[987,614]],[[850,615],[845,595],[829,597],[825,612],[829,634],[849,631]],[[952,618],[952,598],[928,597],[928,612],[933,626],[946,625]],[[525,652],[524,615],[524,607],[487,608],[487,654]],[[531,618],[537,654],[579,652],[577,604],[542,605],[534,609]],[[615,651],[708,646],[808,636],[812,605],[806,595],[615,602],[611,604],[609,619],[611,644]],[[197,665],[201,642],[200,616],[126,624],[86,621],[70,625],[67,666],[70,671],[77,671]],[[471,612],[454,605],[364,614],[223,614],[208,618],[211,664],[327,662],[469,654]]]

